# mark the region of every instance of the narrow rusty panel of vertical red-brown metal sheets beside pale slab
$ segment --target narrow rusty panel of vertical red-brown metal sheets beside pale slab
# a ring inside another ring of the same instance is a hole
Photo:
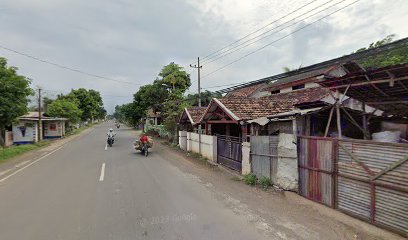
[[[331,138],[298,137],[299,193],[334,207],[335,154]]]

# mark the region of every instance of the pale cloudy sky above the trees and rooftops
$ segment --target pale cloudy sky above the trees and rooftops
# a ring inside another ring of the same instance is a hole
[[[156,79],[170,62],[191,72],[193,93],[198,89],[197,71],[189,64],[196,64],[197,57],[203,66],[201,87],[218,90],[278,74],[283,67],[349,54],[389,34],[408,37],[407,0],[354,2],[1,0],[0,46],[116,81],[68,71],[1,47],[0,56],[31,78],[34,89],[44,89],[45,96],[72,88],[95,89],[112,113],[115,105],[131,102],[138,88]],[[247,35],[230,46],[235,52],[225,52],[226,48],[206,58]]]

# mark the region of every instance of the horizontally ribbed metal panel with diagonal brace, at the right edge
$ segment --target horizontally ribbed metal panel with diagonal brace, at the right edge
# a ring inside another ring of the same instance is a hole
[[[408,144],[364,140],[341,140],[339,144],[338,208],[406,235],[408,162],[375,180],[373,176],[406,159]]]

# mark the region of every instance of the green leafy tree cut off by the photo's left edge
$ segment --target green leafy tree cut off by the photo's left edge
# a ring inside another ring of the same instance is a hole
[[[4,142],[5,128],[27,113],[28,96],[32,94],[30,80],[17,74],[17,68],[7,66],[7,60],[0,57],[0,144]]]

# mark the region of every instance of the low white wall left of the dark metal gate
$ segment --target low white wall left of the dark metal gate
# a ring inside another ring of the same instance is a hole
[[[187,132],[187,151],[199,153],[198,133]],[[211,161],[217,159],[217,137],[201,134],[201,155]]]

